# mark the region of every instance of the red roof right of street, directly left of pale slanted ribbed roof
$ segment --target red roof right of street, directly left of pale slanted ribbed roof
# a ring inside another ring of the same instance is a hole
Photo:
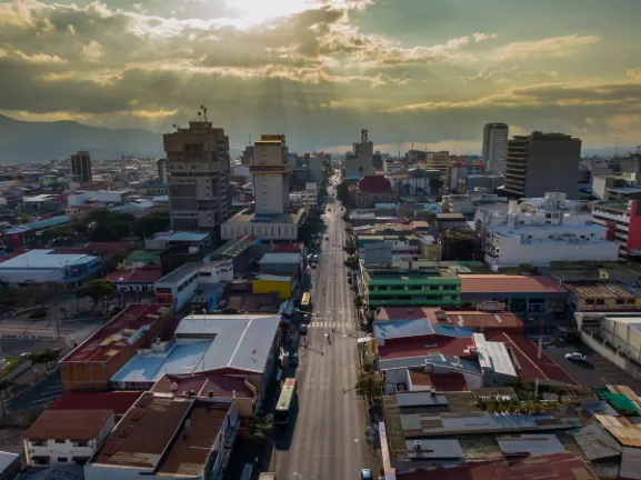
[[[470,352],[465,352],[465,350],[473,346],[474,341],[471,337],[452,338],[440,334],[428,334],[385,340],[385,344],[379,346],[379,356],[381,360],[423,357],[429,353],[470,358],[473,356],[471,356]]]

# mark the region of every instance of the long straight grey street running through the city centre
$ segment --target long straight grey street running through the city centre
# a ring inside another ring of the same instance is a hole
[[[314,314],[308,348],[301,342],[299,349],[298,416],[289,430],[277,431],[271,459],[281,480],[359,479],[361,469],[371,468],[364,401],[352,390],[359,371],[358,331],[343,264],[344,223],[331,196],[327,207],[331,213],[323,216],[327,231],[312,270]]]

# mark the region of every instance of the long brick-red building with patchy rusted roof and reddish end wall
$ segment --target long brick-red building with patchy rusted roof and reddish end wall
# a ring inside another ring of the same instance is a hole
[[[107,390],[109,380],[141,348],[167,334],[171,306],[130,304],[60,360],[66,391]]]

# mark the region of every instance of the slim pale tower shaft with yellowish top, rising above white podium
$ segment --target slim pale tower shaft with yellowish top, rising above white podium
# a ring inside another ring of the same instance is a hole
[[[253,173],[256,214],[289,211],[289,150],[283,134],[263,134],[253,143],[249,166]]]

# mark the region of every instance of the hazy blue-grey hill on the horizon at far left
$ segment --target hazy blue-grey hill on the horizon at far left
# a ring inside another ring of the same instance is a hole
[[[64,159],[87,150],[97,160],[163,157],[162,136],[141,129],[90,127],[76,121],[31,122],[0,114],[0,162]],[[240,150],[231,149],[231,158]]]

